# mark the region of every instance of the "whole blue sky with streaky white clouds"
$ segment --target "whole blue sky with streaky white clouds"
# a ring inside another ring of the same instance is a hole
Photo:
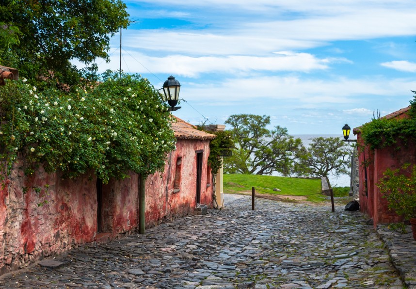
[[[122,69],[180,81],[192,124],[266,114],[290,134],[341,134],[409,105],[414,0],[128,0]],[[119,69],[120,35],[111,63]]]

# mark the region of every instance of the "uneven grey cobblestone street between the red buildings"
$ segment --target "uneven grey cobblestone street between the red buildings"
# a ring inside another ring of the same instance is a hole
[[[402,288],[372,225],[331,206],[234,197],[107,244],[81,246],[0,278],[37,288]]]

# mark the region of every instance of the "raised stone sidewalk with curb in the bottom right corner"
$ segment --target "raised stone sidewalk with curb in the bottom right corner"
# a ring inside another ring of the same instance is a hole
[[[416,241],[412,229],[407,226],[407,234],[392,231],[387,225],[377,225],[377,235],[388,249],[391,262],[409,289],[416,289]]]

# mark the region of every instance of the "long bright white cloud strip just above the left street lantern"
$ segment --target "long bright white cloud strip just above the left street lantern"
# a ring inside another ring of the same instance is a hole
[[[110,64],[101,64],[100,71],[119,69],[119,56],[112,55]],[[123,54],[122,69],[132,73],[144,73],[144,67],[151,67],[152,73],[170,73],[191,78],[201,73],[221,73],[244,75],[251,71],[301,71],[309,72],[326,69],[328,64],[338,59],[319,59],[309,53],[278,54],[269,57],[261,56],[209,56],[192,57],[186,55],[168,55],[150,57],[135,51]],[[144,66],[144,67],[143,67]]]

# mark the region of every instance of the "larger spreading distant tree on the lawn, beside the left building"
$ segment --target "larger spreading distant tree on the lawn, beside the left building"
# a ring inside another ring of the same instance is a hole
[[[234,114],[225,123],[232,127],[230,131],[236,148],[232,157],[224,158],[224,172],[302,174],[303,162],[297,159],[304,158],[305,148],[301,139],[290,136],[287,128],[276,126],[269,130],[270,116]]]

